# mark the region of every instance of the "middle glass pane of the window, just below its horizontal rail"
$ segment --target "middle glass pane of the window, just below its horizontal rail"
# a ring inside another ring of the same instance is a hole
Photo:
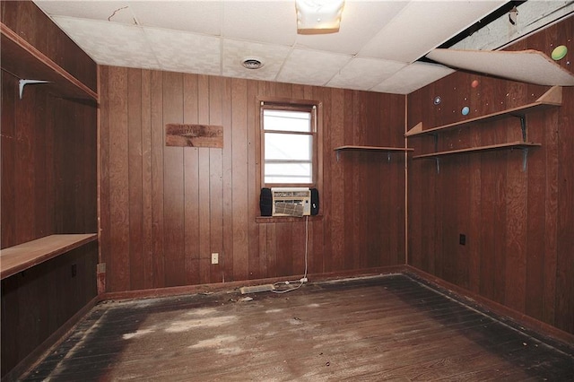
[[[310,161],[312,158],[312,135],[265,133],[265,161]]]

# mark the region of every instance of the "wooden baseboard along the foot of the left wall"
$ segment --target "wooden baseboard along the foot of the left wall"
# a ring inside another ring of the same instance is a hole
[[[80,320],[85,317],[88,312],[90,312],[91,308],[95,307],[98,302],[100,302],[99,296],[91,299],[83,308],[78,310],[74,316],[70,317],[64,323],[64,325],[60,326],[54,333],[50,334],[50,336],[44,340],[43,343],[40,343],[39,346],[34,349],[34,351],[30,352],[26,358],[21,360],[12,370],[6,373],[6,375],[2,378],[2,382],[18,380],[24,373],[28,372],[37,363],[39,363],[39,361],[43,360],[44,354],[50,352],[52,349],[62,343],[66,338],[65,334],[72,330],[74,326],[80,322]]]

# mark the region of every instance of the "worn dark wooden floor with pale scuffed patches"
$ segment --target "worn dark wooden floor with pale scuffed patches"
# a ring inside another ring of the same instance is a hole
[[[389,275],[102,303],[23,378],[47,379],[572,381],[574,357]]]

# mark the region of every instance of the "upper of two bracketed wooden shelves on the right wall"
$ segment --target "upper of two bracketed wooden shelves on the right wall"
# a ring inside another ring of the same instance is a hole
[[[422,122],[410,129],[404,136],[413,137],[417,135],[432,135],[438,131],[445,131],[455,127],[471,124],[473,122],[484,122],[501,117],[524,117],[526,112],[535,111],[536,109],[548,109],[552,107],[561,106],[562,104],[562,88],[561,86],[552,86],[549,91],[546,91],[538,100],[527,105],[519,106],[517,108],[506,109],[492,114],[487,114],[482,117],[474,117],[465,119],[463,121],[454,122],[452,124],[432,127],[426,130],[422,129]]]

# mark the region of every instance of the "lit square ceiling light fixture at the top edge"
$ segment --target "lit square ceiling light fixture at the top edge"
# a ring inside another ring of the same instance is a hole
[[[295,0],[297,33],[326,34],[339,31],[344,0]]]

